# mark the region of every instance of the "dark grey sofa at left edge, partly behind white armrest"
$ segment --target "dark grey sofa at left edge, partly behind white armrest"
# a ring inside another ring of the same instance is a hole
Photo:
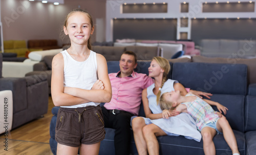
[[[0,91],[12,91],[14,129],[47,113],[48,82],[46,77],[3,78],[2,61],[0,53]]]

